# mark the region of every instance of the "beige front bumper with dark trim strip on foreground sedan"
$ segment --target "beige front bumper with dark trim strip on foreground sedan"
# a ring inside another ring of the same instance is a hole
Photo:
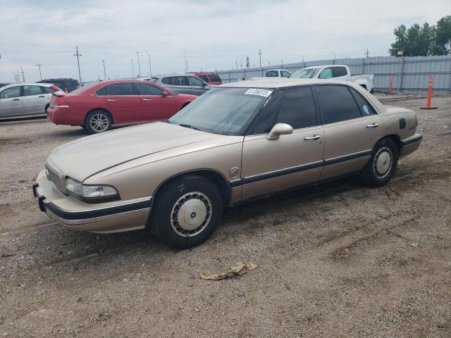
[[[152,205],[152,196],[85,204],[59,192],[47,179],[45,170],[39,173],[36,184],[33,184],[33,194],[41,211],[47,213],[51,220],[74,231],[110,233],[143,229]]]

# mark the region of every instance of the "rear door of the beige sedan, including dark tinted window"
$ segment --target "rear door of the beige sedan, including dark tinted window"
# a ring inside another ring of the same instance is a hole
[[[321,180],[359,172],[383,135],[381,116],[352,87],[321,84],[315,89],[326,139]]]

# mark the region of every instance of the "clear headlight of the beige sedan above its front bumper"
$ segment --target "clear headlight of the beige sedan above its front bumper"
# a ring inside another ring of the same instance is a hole
[[[86,185],[69,177],[66,179],[66,189],[70,194],[87,203],[102,203],[120,199],[118,191],[110,185]]]

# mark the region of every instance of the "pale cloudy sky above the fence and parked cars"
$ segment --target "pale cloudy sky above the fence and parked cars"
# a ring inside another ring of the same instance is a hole
[[[104,64],[108,78],[147,76],[149,56],[152,74],[258,67],[259,50],[262,66],[387,56],[395,27],[450,14],[450,0],[0,0],[0,81],[37,81],[38,64],[78,79],[76,46],[82,81]]]

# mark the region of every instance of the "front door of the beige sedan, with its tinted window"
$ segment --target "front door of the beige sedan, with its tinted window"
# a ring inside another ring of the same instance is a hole
[[[292,134],[268,140],[276,123]],[[242,199],[278,192],[319,180],[324,131],[310,86],[279,89],[245,136],[242,148]]]

